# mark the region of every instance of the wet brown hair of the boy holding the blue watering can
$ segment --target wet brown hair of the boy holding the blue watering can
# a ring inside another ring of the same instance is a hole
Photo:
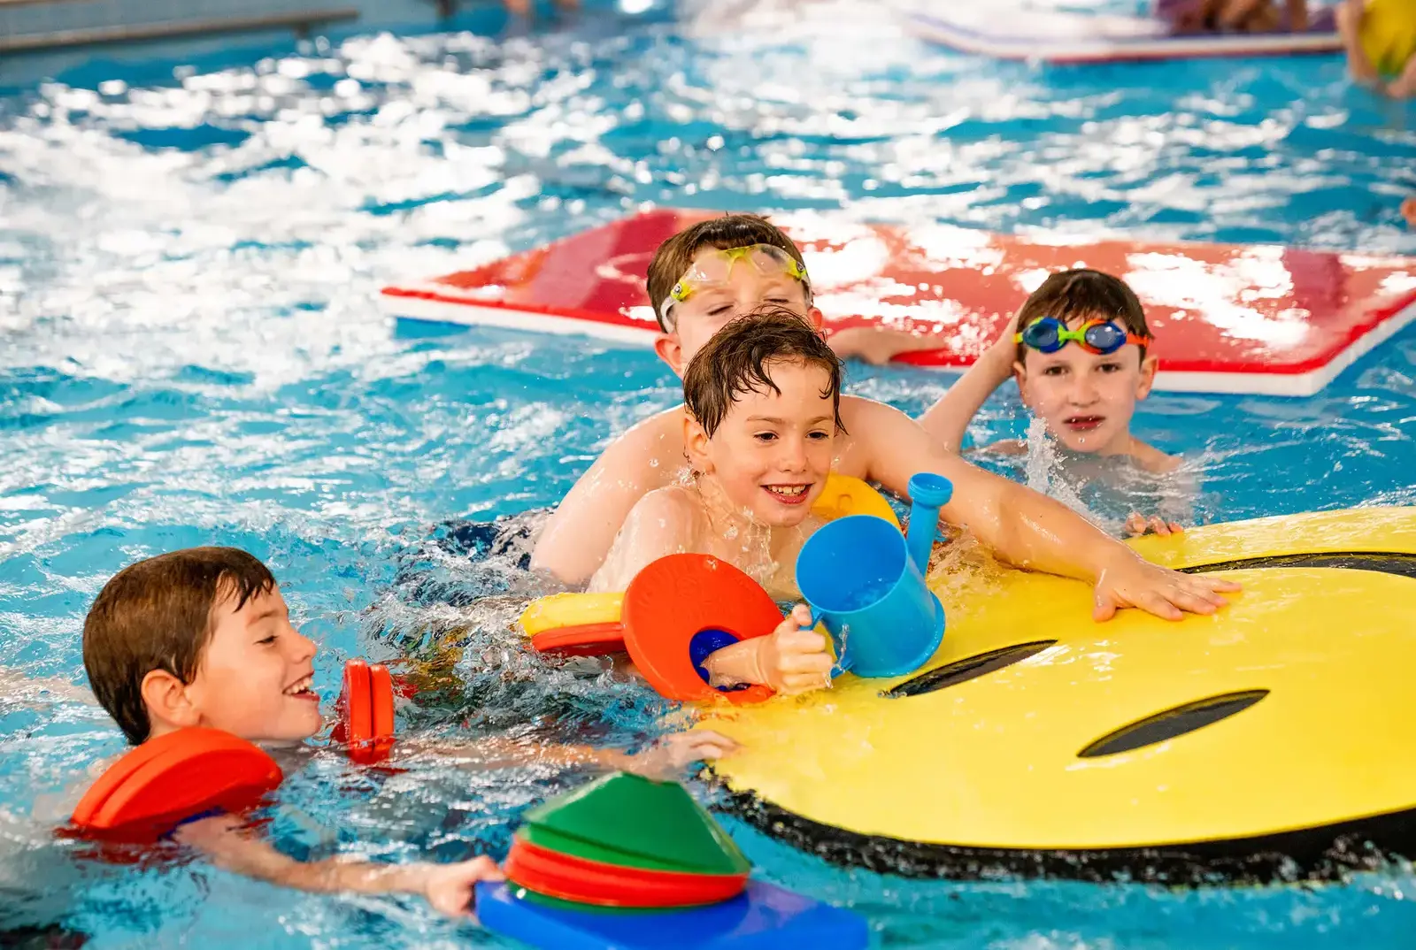
[[[831,398],[835,430],[845,432],[841,425],[841,358],[800,314],[786,307],[760,307],[725,324],[684,372],[684,405],[709,439],[739,394],[769,389],[782,394],[772,381],[773,362],[804,362],[826,370],[830,381],[821,395]]]

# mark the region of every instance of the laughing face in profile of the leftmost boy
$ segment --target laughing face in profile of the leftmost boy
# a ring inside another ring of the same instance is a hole
[[[215,630],[185,687],[195,722],[252,742],[299,740],[320,731],[312,687],[314,643],[290,626],[279,590],[212,606]]]

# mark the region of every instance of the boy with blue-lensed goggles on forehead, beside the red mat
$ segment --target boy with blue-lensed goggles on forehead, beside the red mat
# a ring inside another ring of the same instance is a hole
[[[1151,344],[1141,302],[1124,282],[1086,269],[1055,273],[920,423],[957,452],[978,408],[1011,375],[1022,402],[1065,449],[1127,456],[1157,474],[1174,471],[1178,459],[1131,435],[1136,404],[1155,381]],[[988,449],[1021,454],[1027,445],[1010,440]],[[1131,515],[1126,527],[1131,534],[1180,530],[1141,515]]]

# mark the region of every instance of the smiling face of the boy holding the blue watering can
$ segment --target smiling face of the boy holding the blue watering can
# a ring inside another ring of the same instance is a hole
[[[806,520],[831,471],[835,405],[823,395],[831,377],[799,361],[766,370],[780,395],[739,394],[712,439],[688,419],[685,443],[694,467],[712,476],[736,510],[790,527]]]

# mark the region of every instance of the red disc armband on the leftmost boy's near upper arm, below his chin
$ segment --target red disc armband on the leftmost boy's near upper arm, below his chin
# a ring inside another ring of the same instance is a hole
[[[245,739],[219,729],[178,729],[115,762],[71,821],[85,834],[154,841],[202,811],[244,811],[283,777],[275,759]]]

